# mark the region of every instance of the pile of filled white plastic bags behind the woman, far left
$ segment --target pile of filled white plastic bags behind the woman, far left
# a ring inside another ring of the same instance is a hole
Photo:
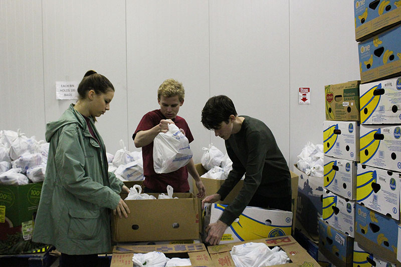
[[[18,129],[0,131],[0,184],[23,185],[45,179],[49,143]]]

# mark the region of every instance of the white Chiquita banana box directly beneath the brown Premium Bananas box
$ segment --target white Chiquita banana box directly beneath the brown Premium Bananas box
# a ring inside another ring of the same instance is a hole
[[[327,156],[359,161],[359,122],[324,121],[323,146]]]

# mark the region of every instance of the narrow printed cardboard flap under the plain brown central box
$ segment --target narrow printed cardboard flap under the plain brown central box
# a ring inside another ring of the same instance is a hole
[[[202,243],[195,244],[156,244],[156,245],[115,245],[113,253],[148,253],[151,251],[182,253],[204,251],[206,247]]]

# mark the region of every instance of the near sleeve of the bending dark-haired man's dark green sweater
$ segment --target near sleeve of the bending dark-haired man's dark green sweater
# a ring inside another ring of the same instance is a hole
[[[246,137],[245,142],[248,147],[248,157],[247,166],[245,167],[244,185],[233,202],[226,207],[220,217],[220,220],[227,225],[231,225],[244,211],[262,180],[262,172],[267,153],[265,138],[259,132],[252,132]]]

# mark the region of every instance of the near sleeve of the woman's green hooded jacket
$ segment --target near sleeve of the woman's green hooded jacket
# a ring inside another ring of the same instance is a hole
[[[101,207],[117,207],[120,196],[116,192],[85,176],[85,155],[76,128],[61,133],[55,163],[62,185],[77,198]]]

